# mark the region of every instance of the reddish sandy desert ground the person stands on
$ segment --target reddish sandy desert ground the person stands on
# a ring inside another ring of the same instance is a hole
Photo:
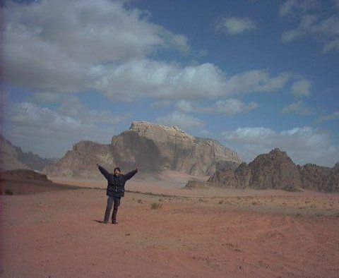
[[[188,178],[132,179],[117,225],[102,224],[103,179],[1,195],[0,277],[339,277],[338,194]]]

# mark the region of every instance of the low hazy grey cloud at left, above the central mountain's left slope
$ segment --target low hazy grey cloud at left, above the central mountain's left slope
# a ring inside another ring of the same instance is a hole
[[[109,143],[114,126],[131,116],[94,111],[75,102],[73,99],[71,106],[61,105],[59,111],[30,102],[12,103],[4,119],[4,133],[23,150],[42,157],[60,157],[79,140]]]

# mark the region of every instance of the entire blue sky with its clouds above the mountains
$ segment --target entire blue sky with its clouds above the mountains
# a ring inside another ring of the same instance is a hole
[[[4,135],[62,157],[132,121],[339,161],[339,1],[6,1]]]

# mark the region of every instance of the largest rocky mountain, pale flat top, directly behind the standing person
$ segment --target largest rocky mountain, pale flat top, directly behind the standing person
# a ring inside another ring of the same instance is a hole
[[[177,127],[135,121],[131,128],[114,135],[109,145],[80,142],[73,150],[45,169],[49,176],[93,178],[99,162],[107,169],[124,171],[140,165],[145,172],[166,169],[192,175],[210,175],[227,164],[242,160],[216,140],[196,138]]]

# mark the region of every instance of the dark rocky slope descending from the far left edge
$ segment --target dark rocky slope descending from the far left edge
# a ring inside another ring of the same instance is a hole
[[[0,135],[0,169],[32,169],[42,171],[44,167],[54,162],[54,159],[44,159],[32,152],[23,152],[20,147],[12,145]]]

